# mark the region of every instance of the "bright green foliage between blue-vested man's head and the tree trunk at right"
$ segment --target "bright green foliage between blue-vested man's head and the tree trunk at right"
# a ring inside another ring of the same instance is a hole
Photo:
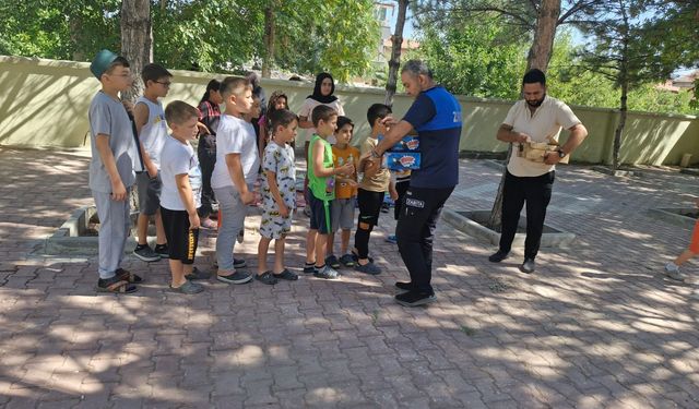
[[[453,19],[441,27],[423,27],[418,52],[439,83],[457,94],[518,97],[525,43],[505,41],[505,28],[491,17]]]

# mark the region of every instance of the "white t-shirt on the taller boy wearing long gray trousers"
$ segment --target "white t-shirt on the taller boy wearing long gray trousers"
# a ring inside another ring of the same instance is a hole
[[[233,187],[233,179],[226,166],[226,155],[240,154],[242,176],[248,184],[254,183],[260,169],[260,157],[257,147],[254,128],[250,122],[232,115],[221,115],[216,131],[216,165],[211,176],[214,189]]]

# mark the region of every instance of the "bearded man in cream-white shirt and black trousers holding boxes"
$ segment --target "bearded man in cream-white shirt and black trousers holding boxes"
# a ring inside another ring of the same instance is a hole
[[[502,233],[500,248],[488,260],[499,263],[507,258],[517,232],[520,212],[526,202],[526,240],[523,273],[533,273],[534,258],[544,230],[546,207],[550,201],[556,164],[570,155],[588,136],[588,130],[572,110],[562,101],[546,95],[546,75],[537,69],[530,70],[522,80],[524,99],[514,104],[500,125],[497,139],[514,143],[519,149],[523,143],[557,143],[561,129],[570,131],[568,141],[557,152],[549,153],[543,163],[535,163],[513,154],[507,165],[502,196]]]

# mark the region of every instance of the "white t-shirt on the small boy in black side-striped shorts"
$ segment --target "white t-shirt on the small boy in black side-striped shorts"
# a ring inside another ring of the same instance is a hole
[[[201,206],[201,168],[194,148],[187,143],[181,143],[173,136],[166,136],[161,152],[161,206],[169,210],[187,210],[177,190],[177,175],[189,176],[189,184],[192,188],[194,207]]]

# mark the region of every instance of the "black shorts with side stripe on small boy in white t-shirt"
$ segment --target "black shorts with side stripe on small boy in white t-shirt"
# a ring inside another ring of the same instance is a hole
[[[194,264],[199,229],[189,228],[187,210],[170,210],[161,206],[161,216],[165,227],[169,258],[179,260],[182,264]]]

